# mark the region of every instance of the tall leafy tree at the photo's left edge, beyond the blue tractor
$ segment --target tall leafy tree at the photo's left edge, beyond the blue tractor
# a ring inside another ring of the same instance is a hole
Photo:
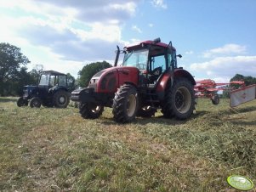
[[[26,76],[30,60],[20,53],[20,48],[0,43],[0,95],[16,94],[20,78]]]

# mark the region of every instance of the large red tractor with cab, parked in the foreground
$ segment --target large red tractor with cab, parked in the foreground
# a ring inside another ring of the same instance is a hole
[[[117,66],[119,55],[122,65]],[[176,49],[160,38],[120,50],[114,67],[96,73],[88,88],[71,93],[83,118],[98,118],[112,107],[114,120],[125,123],[135,116],[151,117],[161,109],[164,117],[186,119],[195,109],[194,85],[188,71],[177,67]]]

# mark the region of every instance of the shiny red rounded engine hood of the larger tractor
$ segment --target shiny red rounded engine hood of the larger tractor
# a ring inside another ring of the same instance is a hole
[[[118,85],[125,82],[138,84],[139,70],[131,66],[111,67],[96,73],[90,80],[88,88],[98,93],[115,93]]]

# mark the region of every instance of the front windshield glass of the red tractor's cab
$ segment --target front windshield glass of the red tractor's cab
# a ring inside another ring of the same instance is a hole
[[[124,55],[123,66],[134,66],[139,70],[146,70],[149,50],[136,50]]]

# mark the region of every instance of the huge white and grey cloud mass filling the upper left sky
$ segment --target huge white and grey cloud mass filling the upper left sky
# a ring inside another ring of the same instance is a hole
[[[134,16],[137,3],[137,0],[1,1],[0,8],[5,14],[0,13],[4,25],[0,42],[21,48],[31,66],[69,69],[73,75],[85,63],[115,59],[116,45],[122,47],[124,43],[122,25]]]

